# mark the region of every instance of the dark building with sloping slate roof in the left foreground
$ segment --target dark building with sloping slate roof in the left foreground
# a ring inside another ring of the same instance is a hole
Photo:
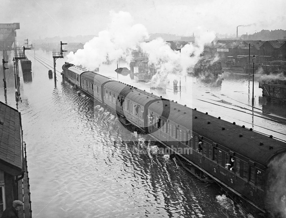
[[[13,201],[24,209],[19,217],[31,217],[31,200],[21,114],[0,101],[0,216]]]

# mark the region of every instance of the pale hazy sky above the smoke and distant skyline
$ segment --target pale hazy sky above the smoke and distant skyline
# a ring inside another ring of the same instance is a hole
[[[286,29],[285,0],[3,0],[0,23],[20,23],[17,36],[98,35],[112,22],[111,11],[130,13],[130,21],[151,33],[190,36],[204,29],[220,34],[253,34]]]

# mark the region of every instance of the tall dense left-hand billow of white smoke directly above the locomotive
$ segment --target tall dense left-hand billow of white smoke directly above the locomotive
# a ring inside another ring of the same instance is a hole
[[[138,48],[138,43],[148,39],[147,29],[142,24],[132,25],[130,13],[110,11],[111,23],[108,28],[98,33],[76,53],[67,55],[68,61],[95,69],[104,63],[112,63],[118,58],[131,61],[131,52]]]

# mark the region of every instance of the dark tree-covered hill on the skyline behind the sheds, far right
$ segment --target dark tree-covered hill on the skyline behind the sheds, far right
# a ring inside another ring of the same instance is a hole
[[[275,30],[261,30],[258,33],[254,33],[252,35],[241,35],[242,40],[277,40],[277,39],[285,39],[286,31],[283,29],[275,29]]]

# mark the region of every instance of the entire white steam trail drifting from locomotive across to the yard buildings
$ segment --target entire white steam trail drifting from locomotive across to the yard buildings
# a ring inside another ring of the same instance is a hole
[[[199,29],[195,43],[185,45],[180,52],[172,50],[161,38],[145,42],[149,37],[146,27],[142,24],[133,25],[130,13],[110,11],[110,17],[111,23],[106,30],[87,42],[84,49],[67,55],[70,63],[92,70],[102,64],[114,63],[118,58],[130,63],[132,51],[140,51],[147,54],[149,66],[158,72],[151,80],[156,85],[166,82],[168,73],[185,75],[187,69],[200,59],[204,45],[215,39],[214,32]]]

